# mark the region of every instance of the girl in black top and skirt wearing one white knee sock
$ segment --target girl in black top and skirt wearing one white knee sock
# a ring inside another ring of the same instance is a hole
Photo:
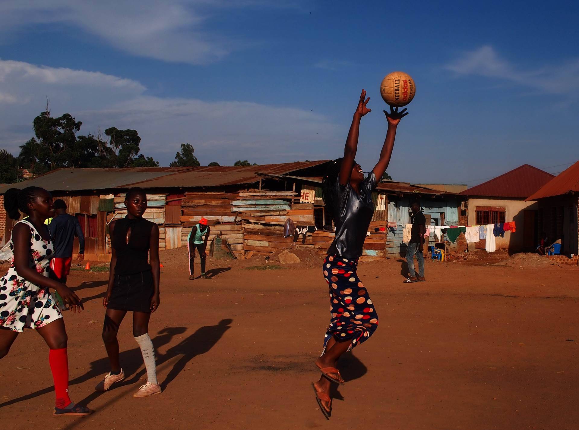
[[[147,382],[133,395],[146,397],[160,394],[155,366],[155,349],[149,337],[149,318],[159,307],[159,227],[144,219],[146,193],[141,188],[131,188],[124,197],[127,216],[111,222],[109,233],[112,242],[111,271],[107,295],[102,304],[107,309],[102,340],[111,372],[97,386],[97,391],[107,391],[124,379],[119,362],[117,333],[127,311],[133,311],[133,336],[141,348],[147,373]]]

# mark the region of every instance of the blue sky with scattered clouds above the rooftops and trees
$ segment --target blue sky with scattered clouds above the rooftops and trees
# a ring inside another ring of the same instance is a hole
[[[94,3],[94,4],[89,4]],[[579,6],[573,2],[3,0],[0,146],[17,153],[50,98],[81,134],[134,128],[162,165],[339,157],[360,90],[357,160],[375,164],[379,84],[416,82],[388,169],[468,183],[579,159]]]

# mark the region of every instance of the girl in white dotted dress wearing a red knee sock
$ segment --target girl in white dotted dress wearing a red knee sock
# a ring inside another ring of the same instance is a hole
[[[56,392],[54,415],[90,415],[93,410],[76,405],[68,397],[68,338],[53,292],[58,292],[75,314],[84,307],[68,286],[51,277],[49,263],[54,248],[44,222],[54,216],[52,196],[34,186],[12,188],[4,195],[4,208],[14,220],[20,219],[20,212],[28,216],[12,229],[10,249],[14,255],[8,273],[0,278],[0,358],[8,354],[25,328],[36,329],[50,348],[48,361]]]

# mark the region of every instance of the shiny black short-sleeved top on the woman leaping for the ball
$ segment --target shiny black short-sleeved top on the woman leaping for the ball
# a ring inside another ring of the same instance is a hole
[[[362,247],[368,226],[374,214],[372,190],[378,182],[374,172],[360,183],[360,194],[350,183],[340,185],[340,177],[336,179],[336,207],[334,216],[336,237],[328,249],[329,254],[337,254],[346,258],[358,258],[362,255]]]

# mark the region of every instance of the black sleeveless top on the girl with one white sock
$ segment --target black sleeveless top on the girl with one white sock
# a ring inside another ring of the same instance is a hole
[[[125,216],[115,223],[112,247],[116,252],[115,275],[126,276],[151,270],[149,244],[153,223],[144,218],[130,219]],[[127,230],[131,237],[127,244]]]

